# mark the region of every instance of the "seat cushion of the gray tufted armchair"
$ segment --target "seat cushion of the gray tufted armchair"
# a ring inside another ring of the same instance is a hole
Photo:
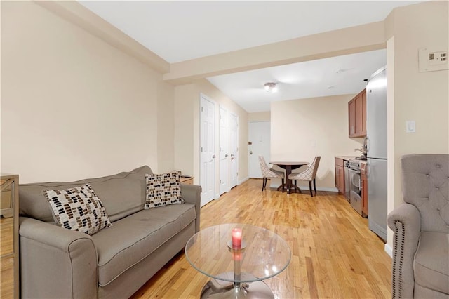
[[[449,294],[449,234],[421,232],[413,269],[415,282],[424,288]]]

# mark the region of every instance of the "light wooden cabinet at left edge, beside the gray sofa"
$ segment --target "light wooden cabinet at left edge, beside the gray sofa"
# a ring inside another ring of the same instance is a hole
[[[1,174],[0,294],[19,298],[19,177]]]

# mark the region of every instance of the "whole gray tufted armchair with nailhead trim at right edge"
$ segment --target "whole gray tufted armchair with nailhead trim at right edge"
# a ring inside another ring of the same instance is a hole
[[[393,230],[393,298],[449,298],[449,155],[401,158],[404,204]]]

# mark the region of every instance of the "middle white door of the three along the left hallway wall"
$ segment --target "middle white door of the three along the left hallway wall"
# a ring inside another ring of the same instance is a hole
[[[229,118],[227,109],[220,105],[220,194],[229,191]]]

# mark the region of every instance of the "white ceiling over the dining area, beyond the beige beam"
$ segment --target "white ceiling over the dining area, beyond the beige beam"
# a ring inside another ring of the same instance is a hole
[[[270,102],[359,93],[377,69],[387,64],[387,51],[343,55],[210,77],[208,80],[247,112],[270,110]],[[275,82],[277,93],[263,86]]]

